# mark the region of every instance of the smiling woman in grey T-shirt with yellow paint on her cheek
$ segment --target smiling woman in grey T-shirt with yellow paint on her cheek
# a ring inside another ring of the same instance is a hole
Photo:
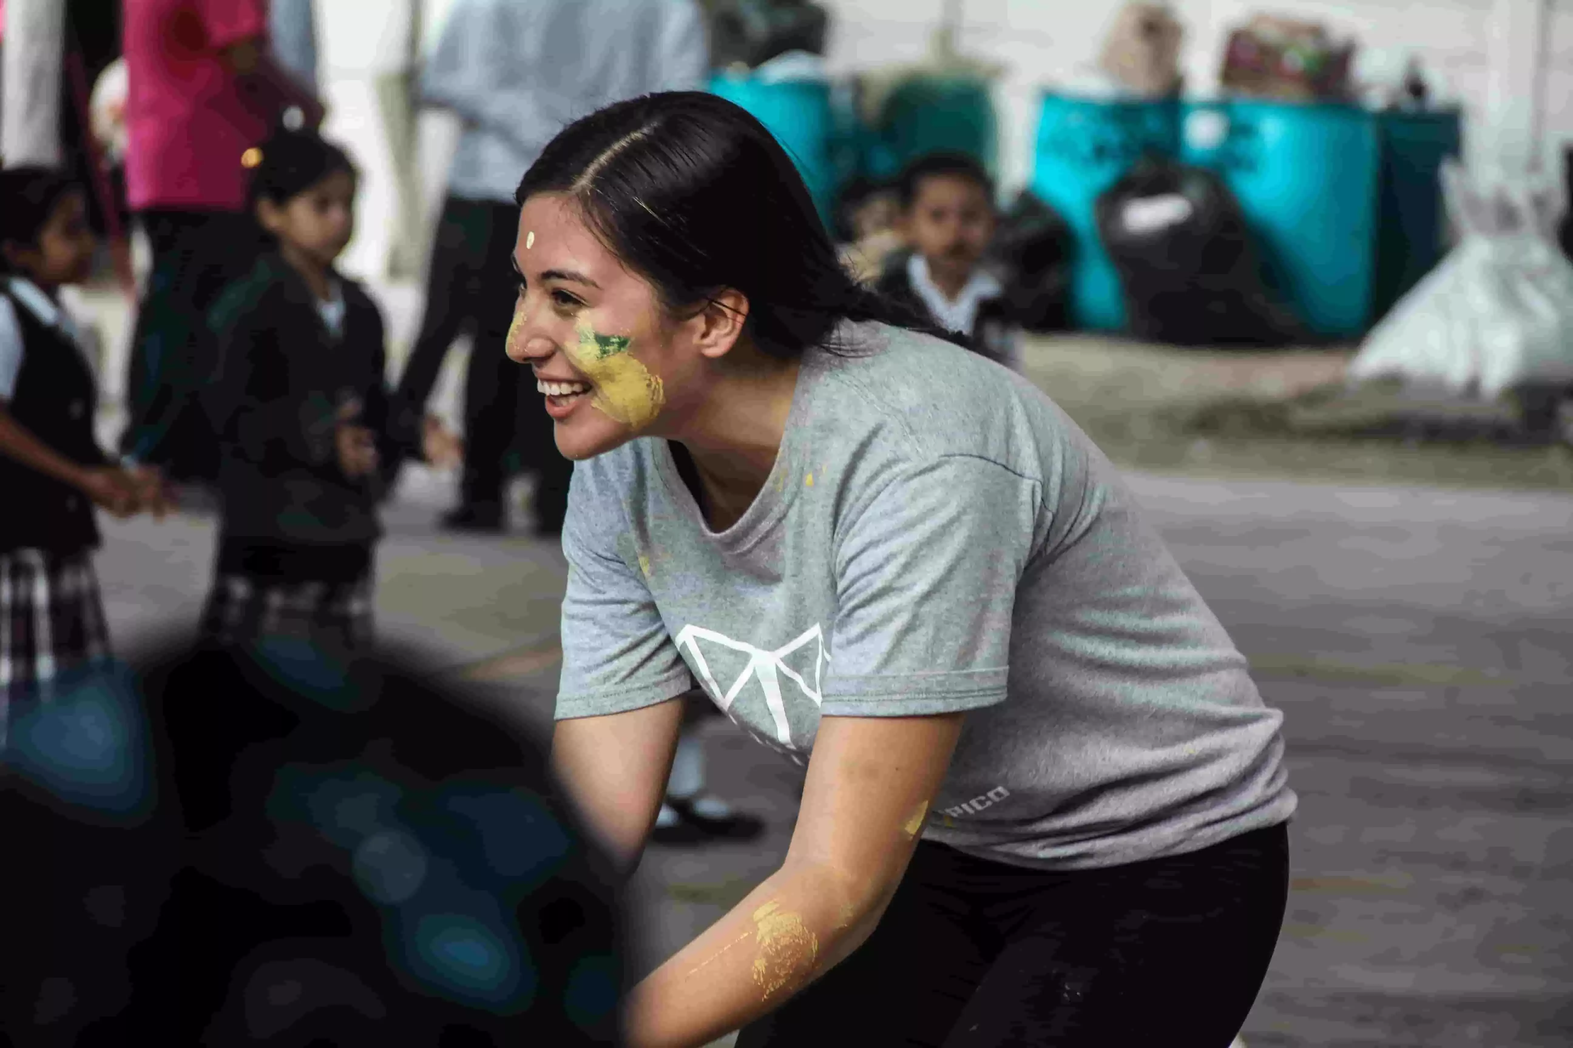
[[[508,355],[577,462],[557,773],[631,867],[680,699],[809,767],[628,1043],[1227,1045],[1284,918],[1282,715],[1109,462],[856,284],[730,102],[601,110],[518,201]]]

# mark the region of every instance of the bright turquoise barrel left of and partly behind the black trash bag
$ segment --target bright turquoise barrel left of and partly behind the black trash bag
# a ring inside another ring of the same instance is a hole
[[[1098,236],[1098,195],[1144,152],[1175,156],[1178,140],[1178,102],[1043,96],[1032,192],[1065,218],[1074,239],[1070,313],[1076,327],[1125,327],[1120,275]]]

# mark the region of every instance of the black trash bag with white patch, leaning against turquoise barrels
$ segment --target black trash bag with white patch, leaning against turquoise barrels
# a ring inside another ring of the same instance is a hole
[[[1144,157],[1098,196],[1096,222],[1137,338],[1240,349],[1310,338],[1263,281],[1246,217],[1213,171]]]

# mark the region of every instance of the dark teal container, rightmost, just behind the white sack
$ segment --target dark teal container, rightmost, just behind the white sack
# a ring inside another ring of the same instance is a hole
[[[1463,151],[1457,110],[1378,113],[1376,127],[1383,163],[1373,322],[1447,253],[1442,162]]]

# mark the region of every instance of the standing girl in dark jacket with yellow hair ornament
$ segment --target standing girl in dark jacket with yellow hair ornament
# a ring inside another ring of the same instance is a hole
[[[392,416],[382,316],[333,269],[354,226],[349,157],[313,132],[278,132],[244,163],[272,250],[208,317],[222,526],[201,632],[348,655],[371,639],[379,459],[450,464],[458,445],[434,420]]]

